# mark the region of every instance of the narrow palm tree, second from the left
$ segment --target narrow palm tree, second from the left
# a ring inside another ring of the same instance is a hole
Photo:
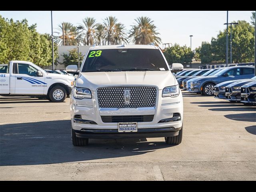
[[[96,20],[92,17],[86,17],[83,19],[83,24],[80,24],[84,28],[84,45],[94,44],[95,28],[97,26]]]

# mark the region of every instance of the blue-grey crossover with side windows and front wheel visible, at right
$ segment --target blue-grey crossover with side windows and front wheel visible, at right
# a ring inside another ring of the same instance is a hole
[[[194,93],[201,93],[206,96],[214,94],[214,86],[224,81],[248,79],[254,76],[253,66],[234,66],[227,67],[213,76],[198,77],[190,82],[191,91]]]

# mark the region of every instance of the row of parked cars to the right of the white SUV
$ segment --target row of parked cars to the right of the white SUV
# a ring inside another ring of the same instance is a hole
[[[226,99],[230,102],[256,103],[254,66],[191,69],[174,75],[180,89]]]

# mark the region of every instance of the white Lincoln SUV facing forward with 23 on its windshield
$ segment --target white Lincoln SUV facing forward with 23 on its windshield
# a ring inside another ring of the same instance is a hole
[[[70,96],[72,143],[89,138],[164,137],[182,141],[183,100],[162,51],[149,45],[110,45],[90,48]],[[171,71],[172,70],[172,71]]]

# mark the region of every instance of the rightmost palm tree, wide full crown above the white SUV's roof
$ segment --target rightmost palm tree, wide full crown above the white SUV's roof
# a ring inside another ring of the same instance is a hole
[[[137,22],[132,26],[130,30],[129,38],[132,38],[132,42],[135,44],[149,44],[150,42],[154,42],[155,44],[161,43],[161,38],[157,35],[156,26],[148,17],[139,17],[135,19]]]

